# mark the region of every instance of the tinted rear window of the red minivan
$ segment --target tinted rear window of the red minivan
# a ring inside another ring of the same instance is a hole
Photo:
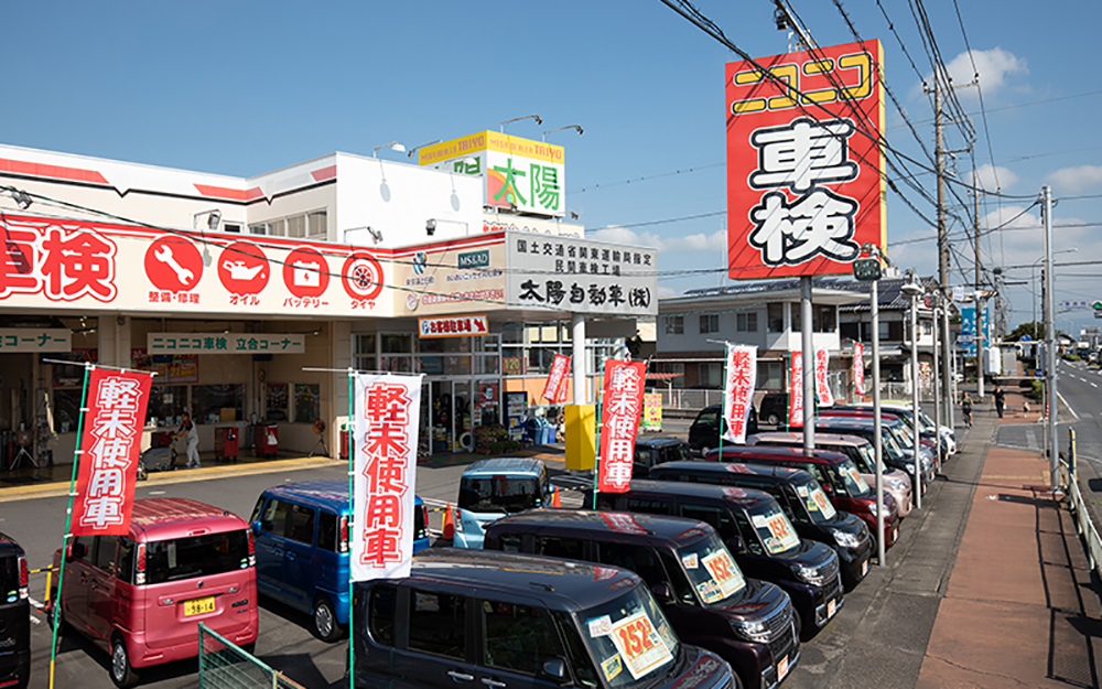
[[[212,577],[249,566],[245,530],[205,534],[145,545],[145,583]]]

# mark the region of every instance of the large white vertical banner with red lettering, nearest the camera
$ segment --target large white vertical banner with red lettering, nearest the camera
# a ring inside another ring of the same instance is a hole
[[[410,574],[422,377],[353,375],[353,581]]]

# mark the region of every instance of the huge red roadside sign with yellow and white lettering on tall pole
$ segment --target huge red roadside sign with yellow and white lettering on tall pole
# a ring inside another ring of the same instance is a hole
[[[849,273],[886,243],[880,44],[755,62],[726,68],[728,274]]]

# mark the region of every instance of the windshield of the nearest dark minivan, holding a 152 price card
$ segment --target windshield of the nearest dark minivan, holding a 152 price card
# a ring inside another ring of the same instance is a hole
[[[662,611],[642,586],[581,611],[582,638],[609,687],[642,687],[648,676],[669,671],[679,642]]]

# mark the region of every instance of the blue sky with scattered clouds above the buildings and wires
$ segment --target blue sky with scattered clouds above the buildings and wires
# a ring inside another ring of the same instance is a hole
[[[958,91],[979,134],[979,179],[1026,197],[984,197],[983,227],[1006,228],[984,236],[983,263],[1030,280],[1030,269],[1012,267],[1041,256],[1039,214],[1029,206],[1042,184],[1060,198],[1055,246],[1067,252],[1058,262],[1102,261],[1102,198],[1091,197],[1102,195],[1102,3],[1072,0],[1058,11],[1025,0],[959,4],[986,110],[985,127],[976,89]],[[787,51],[769,0],[696,7],[750,55]],[[854,40],[834,3],[792,7],[821,45]],[[882,41],[887,84],[932,151],[932,109],[921,89],[931,68],[908,3],[843,7],[862,37]],[[952,1],[927,0],[926,9],[957,82],[970,82]],[[8,21],[4,143],[252,175],[333,151],[370,154],[391,140],[414,147],[497,129],[534,112],[542,126],[525,120],[507,131],[538,139],[584,128],[548,140],[566,149],[566,205],[588,230],[659,246],[663,272],[716,269],[663,274],[666,293],[725,280],[723,80],[724,64],[737,57],[658,0],[37,2]],[[949,148],[965,148],[959,130],[947,131]],[[890,101],[887,137],[925,158]],[[959,179],[970,181],[972,168],[969,154],[958,154]],[[932,175],[916,172],[932,193]],[[905,194],[933,217],[917,193]],[[954,271],[960,265],[971,281],[971,250],[959,224],[952,233]],[[897,265],[934,273],[933,234],[889,194]],[[1102,299],[1100,274],[1099,265],[1059,268],[1057,300]],[[1012,326],[1031,319],[1029,289],[1009,287]],[[1094,323],[1090,316],[1060,315],[1058,325],[1078,331]]]

